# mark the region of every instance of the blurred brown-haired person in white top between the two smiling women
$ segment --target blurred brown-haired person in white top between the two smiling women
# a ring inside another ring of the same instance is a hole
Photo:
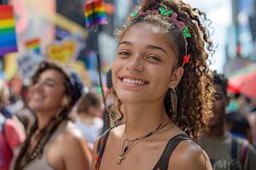
[[[100,96],[92,92],[84,94],[79,99],[76,112],[79,117],[75,124],[84,134],[84,138],[92,150],[96,139],[102,134],[103,104]]]

